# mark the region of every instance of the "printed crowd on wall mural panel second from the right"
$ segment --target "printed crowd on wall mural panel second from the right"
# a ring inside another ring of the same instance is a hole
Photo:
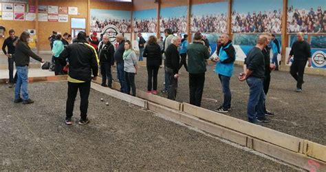
[[[233,33],[281,33],[282,13],[279,10],[232,12]]]

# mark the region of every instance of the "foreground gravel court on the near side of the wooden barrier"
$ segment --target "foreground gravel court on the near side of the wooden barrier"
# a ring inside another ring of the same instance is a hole
[[[13,89],[6,85],[0,85],[0,90],[0,130],[1,138],[6,138],[1,144],[11,144],[0,148],[1,170],[297,170],[94,90],[89,98],[91,123],[76,124],[77,98],[74,125],[66,126],[65,82],[30,83],[30,97],[35,100],[32,105],[12,103]],[[32,151],[26,151],[29,149]],[[23,163],[10,164],[17,159]]]

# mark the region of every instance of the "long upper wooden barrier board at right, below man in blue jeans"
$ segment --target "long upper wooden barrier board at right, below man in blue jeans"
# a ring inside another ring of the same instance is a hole
[[[183,111],[187,114],[214,122],[217,125],[227,127],[228,129],[233,129],[248,136],[276,144],[279,147],[283,147],[294,152],[303,153],[303,139],[301,138],[296,138],[286,133],[281,133],[279,131],[261,127],[259,125],[253,125],[250,122],[219,114],[215,111],[210,111],[202,107],[196,107],[188,103],[183,103],[183,106]]]

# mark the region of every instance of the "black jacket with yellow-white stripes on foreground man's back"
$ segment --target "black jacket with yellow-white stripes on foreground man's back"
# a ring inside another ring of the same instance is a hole
[[[86,40],[78,40],[77,43],[67,45],[59,56],[61,65],[66,65],[66,58],[69,60],[71,78],[90,81],[91,74],[98,76],[98,56],[94,47]]]

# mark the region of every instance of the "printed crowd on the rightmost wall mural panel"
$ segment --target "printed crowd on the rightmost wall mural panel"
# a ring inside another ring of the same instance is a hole
[[[326,9],[318,6],[317,9],[300,10],[290,6],[287,10],[287,32],[296,33],[325,33]]]

